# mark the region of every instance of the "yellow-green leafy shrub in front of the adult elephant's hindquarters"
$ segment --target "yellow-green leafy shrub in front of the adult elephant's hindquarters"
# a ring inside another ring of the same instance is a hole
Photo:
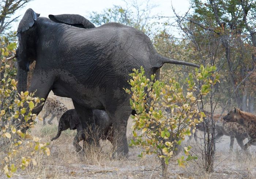
[[[131,145],[141,146],[144,150],[139,155],[156,154],[162,163],[163,176],[166,177],[166,170],[169,160],[177,151],[177,146],[185,140],[185,136],[190,136],[190,129],[203,121],[205,114],[199,112],[195,107],[200,99],[195,97],[195,91],[205,96],[210,92],[210,76],[215,75],[215,67],[200,67],[196,69],[195,74],[190,74],[187,79],[187,94],[182,90],[180,84],[175,79],[170,79],[169,83],[155,80],[155,75],[148,79],[144,73],[143,67],[140,71],[133,69],[129,74],[132,79],[128,82],[131,89],[125,91],[131,94],[130,105],[136,110],[133,118],[133,136],[135,140]],[[207,74],[207,75],[204,75]],[[210,74],[210,75],[209,75]],[[197,88],[191,79],[201,81],[204,85]],[[184,95],[185,93],[185,95]],[[165,110],[169,111],[165,113]],[[138,134],[137,131],[141,133]],[[191,146],[184,147],[185,156],[177,159],[181,167],[191,159],[197,159],[191,156],[189,151]]]

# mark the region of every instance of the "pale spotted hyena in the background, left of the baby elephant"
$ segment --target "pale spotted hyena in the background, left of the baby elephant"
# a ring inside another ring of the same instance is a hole
[[[52,120],[54,117],[57,117],[57,120],[59,122],[61,115],[67,110],[68,108],[62,102],[48,97],[44,104],[44,111],[45,111],[45,114],[43,117],[44,125],[45,125],[45,118],[49,116],[49,114],[52,114],[52,117],[48,120],[48,124],[52,124]]]

